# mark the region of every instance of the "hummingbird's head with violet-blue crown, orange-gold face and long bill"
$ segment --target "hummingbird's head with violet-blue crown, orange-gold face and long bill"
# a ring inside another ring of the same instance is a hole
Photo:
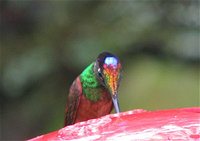
[[[117,56],[103,52],[95,62],[94,71],[100,83],[111,94],[115,111],[119,113],[118,88],[121,80],[122,66]]]

